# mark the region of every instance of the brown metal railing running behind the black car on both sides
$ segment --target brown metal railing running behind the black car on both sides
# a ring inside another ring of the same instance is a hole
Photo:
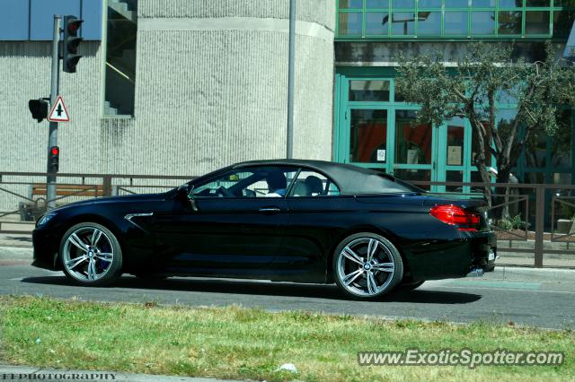
[[[46,173],[0,172],[0,234],[30,234],[34,221],[45,213],[48,200],[42,194]],[[57,204],[66,204],[92,197],[161,192],[177,187],[196,177],[110,174],[58,174]],[[473,187],[483,183],[412,181],[420,187]],[[509,215],[520,216],[521,226],[512,229],[491,220],[498,235],[498,252],[534,256],[531,266],[544,266],[544,254],[575,255],[575,186],[550,184],[489,184],[494,200],[489,210],[505,209]],[[36,188],[34,188],[36,187]],[[43,188],[42,188],[43,187]],[[58,191],[59,190],[59,191]],[[438,195],[483,197],[482,193],[442,192]],[[565,219],[558,221],[559,217]],[[571,227],[565,230],[565,226]],[[507,221],[509,223],[509,221]],[[562,224],[562,230],[557,231]],[[509,223],[510,224],[510,223]],[[520,247],[515,243],[528,246]],[[506,246],[501,244],[506,243]],[[550,243],[555,243],[550,246]],[[546,247],[545,247],[546,246]],[[563,247],[557,247],[563,246]],[[571,246],[571,247],[570,247]],[[575,256],[573,257],[575,260]],[[575,264],[575,263],[574,263]]]

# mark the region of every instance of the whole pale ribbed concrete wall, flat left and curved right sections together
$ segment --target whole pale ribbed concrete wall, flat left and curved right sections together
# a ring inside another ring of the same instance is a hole
[[[299,0],[296,158],[332,159],[332,0]],[[288,1],[140,0],[133,118],[102,118],[103,48],[61,74],[60,172],[199,175],[286,155]],[[0,171],[46,169],[51,43],[0,41]]]

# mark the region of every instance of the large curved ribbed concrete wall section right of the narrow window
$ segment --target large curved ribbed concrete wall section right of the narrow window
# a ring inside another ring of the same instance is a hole
[[[335,4],[298,2],[297,158],[332,158]],[[102,120],[104,172],[201,174],[286,155],[288,2],[138,4],[134,121]]]

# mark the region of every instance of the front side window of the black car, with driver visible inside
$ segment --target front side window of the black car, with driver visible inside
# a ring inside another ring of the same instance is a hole
[[[194,197],[284,197],[296,169],[264,166],[234,169],[194,185]]]

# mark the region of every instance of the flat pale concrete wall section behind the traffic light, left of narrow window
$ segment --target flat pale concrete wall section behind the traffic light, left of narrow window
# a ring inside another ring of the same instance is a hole
[[[60,169],[92,172],[101,169],[100,42],[84,41],[84,57],[76,74],[60,74],[71,122],[61,124]],[[0,171],[45,171],[49,123],[31,118],[28,100],[49,97],[51,43],[0,41]]]

